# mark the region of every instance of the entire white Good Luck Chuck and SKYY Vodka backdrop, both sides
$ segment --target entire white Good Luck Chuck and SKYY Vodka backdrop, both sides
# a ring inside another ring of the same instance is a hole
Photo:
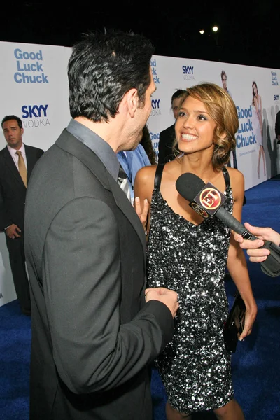
[[[66,47],[0,42],[0,118],[19,116],[27,145],[46,151],[69,123],[70,54],[71,48]],[[151,68],[157,90],[152,98],[148,129],[157,153],[160,131],[174,123],[172,94],[177,89],[212,82],[226,88],[237,106],[237,164],[245,176],[246,190],[280,173],[280,145],[275,135],[276,113],[280,109],[280,69],[157,55],[151,60]],[[258,103],[261,130],[254,92],[261,99]],[[264,153],[260,153],[260,145]],[[0,150],[5,146],[0,130]],[[4,235],[0,232],[0,306],[16,299]]]

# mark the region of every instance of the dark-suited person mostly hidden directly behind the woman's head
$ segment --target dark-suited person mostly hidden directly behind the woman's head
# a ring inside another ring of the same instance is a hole
[[[177,89],[174,94],[172,94],[171,104],[172,111],[175,118],[175,121],[178,117],[179,107],[181,103],[181,97],[186,92],[183,89]],[[158,163],[162,164],[174,160],[175,155],[173,151],[173,144],[175,141],[175,123],[167,127],[165,130],[160,132],[160,139],[158,142]]]

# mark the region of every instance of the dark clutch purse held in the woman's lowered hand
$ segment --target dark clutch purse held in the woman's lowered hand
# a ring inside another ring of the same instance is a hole
[[[225,348],[228,353],[235,353],[236,351],[239,336],[244,329],[245,314],[246,306],[244,300],[239,292],[237,292],[237,295],[235,295],[235,302],[232,304],[232,309],[230,309],[223,330]]]

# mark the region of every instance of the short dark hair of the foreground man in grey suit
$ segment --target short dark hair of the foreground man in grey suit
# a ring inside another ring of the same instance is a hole
[[[132,88],[137,89],[140,106],[144,106],[152,55],[151,41],[132,32],[84,34],[73,46],[68,64],[71,117],[108,122]]]

